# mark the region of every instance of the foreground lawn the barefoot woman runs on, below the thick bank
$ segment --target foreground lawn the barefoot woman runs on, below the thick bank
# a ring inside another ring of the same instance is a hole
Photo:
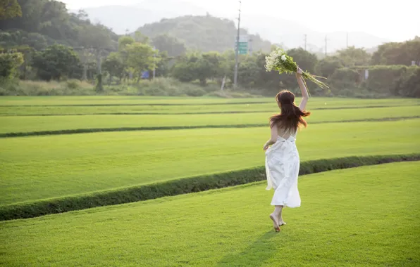
[[[254,183],[0,222],[5,266],[419,266],[416,162],[302,176],[275,233]]]

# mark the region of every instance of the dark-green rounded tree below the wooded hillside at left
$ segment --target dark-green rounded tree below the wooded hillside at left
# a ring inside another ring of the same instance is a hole
[[[80,61],[73,48],[54,44],[35,54],[33,66],[37,68],[39,78],[49,81],[72,77]]]

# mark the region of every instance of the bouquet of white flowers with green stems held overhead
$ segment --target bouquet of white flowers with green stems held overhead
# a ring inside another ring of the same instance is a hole
[[[283,51],[283,49],[277,48],[275,51],[271,52],[270,56],[266,56],[266,71],[270,72],[271,70],[276,70],[280,74],[284,72],[293,73],[297,72],[297,64],[295,63],[295,61],[293,61],[293,58],[291,56],[288,56],[288,54],[286,54],[285,51]],[[309,74],[309,72],[303,72],[302,77],[304,78],[304,82],[305,79],[309,79],[310,81],[314,82],[317,86],[323,89],[328,88],[327,84],[316,79],[326,79],[324,77]]]

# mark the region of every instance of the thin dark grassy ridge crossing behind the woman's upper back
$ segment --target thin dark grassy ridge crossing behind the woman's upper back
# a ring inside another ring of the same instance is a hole
[[[340,123],[340,122],[385,122],[396,121],[401,119],[417,119],[420,116],[407,117],[385,117],[380,119],[346,119],[326,122],[311,122],[311,124],[326,124],[326,123]],[[75,133],[99,133],[112,131],[158,131],[158,130],[183,130],[183,129],[204,129],[204,128],[252,128],[264,127],[268,124],[226,124],[226,125],[197,125],[197,126],[154,126],[154,127],[124,127],[124,128],[92,128],[92,129],[67,129],[54,131],[28,131],[18,133],[0,133],[0,138],[7,137],[23,137],[23,136],[54,136],[60,134],[75,134]]]

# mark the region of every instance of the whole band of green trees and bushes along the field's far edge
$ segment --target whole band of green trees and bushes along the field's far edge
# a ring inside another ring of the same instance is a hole
[[[97,90],[101,91],[102,82],[138,83],[144,77],[150,79],[155,72],[156,77],[173,77],[201,86],[220,85],[223,80],[226,88],[232,87],[233,50],[192,51],[168,34],[153,39],[141,32],[118,37],[104,25],[90,22],[83,11],[67,13],[66,6],[58,1],[8,0],[1,10],[1,22],[5,22],[7,30],[0,32],[2,81],[16,77],[46,81],[97,80]],[[328,79],[331,88],[314,88],[311,90],[314,95],[419,97],[420,83],[416,84],[419,67],[410,66],[420,65],[420,37],[383,44],[373,54],[355,47],[322,59],[302,48],[289,49],[288,54],[303,70]],[[266,56],[268,53],[263,51],[240,56],[240,88],[258,89],[261,94],[295,90],[291,75],[265,71]],[[389,81],[389,77],[393,77],[392,89],[389,86],[383,86],[386,90],[373,89],[382,84],[373,79]]]

